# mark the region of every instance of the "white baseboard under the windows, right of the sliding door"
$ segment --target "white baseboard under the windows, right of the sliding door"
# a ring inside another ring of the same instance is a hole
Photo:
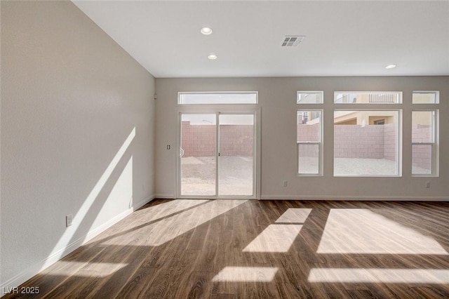
[[[449,197],[369,196],[369,195],[276,195],[265,194],[261,200],[335,200],[335,201],[449,201]]]

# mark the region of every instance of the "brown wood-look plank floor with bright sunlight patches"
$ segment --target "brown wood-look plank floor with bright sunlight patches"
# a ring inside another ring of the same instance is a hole
[[[448,252],[449,203],[156,199],[22,286],[39,298],[449,298]]]

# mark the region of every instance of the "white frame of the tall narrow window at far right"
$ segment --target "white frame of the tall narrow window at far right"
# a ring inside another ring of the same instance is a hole
[[[434,112],[432,117],[432,140],[431,142],[413,142],[412,141],[412,160],[410,164],[412,165],[412,176],[413,177],[438,177],[439,176],[439,133],[438,133],[438,124],[439,124],[439,109],[413,109],[412,110],[412,117],[413,112]],[[413,145],[431,145],[432,150],[432,162],[431,162],[431,173],[413,173]]]

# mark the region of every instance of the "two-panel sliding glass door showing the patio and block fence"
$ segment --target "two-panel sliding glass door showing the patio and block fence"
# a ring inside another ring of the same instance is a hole
[[[254,121],[254,114],[180,115],[180,197],[254,197]]]

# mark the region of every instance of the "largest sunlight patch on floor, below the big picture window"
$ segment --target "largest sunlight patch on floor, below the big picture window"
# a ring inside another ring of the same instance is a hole
[[[435,239],[367,209],[331,209],[317,253],[437,254]]]

